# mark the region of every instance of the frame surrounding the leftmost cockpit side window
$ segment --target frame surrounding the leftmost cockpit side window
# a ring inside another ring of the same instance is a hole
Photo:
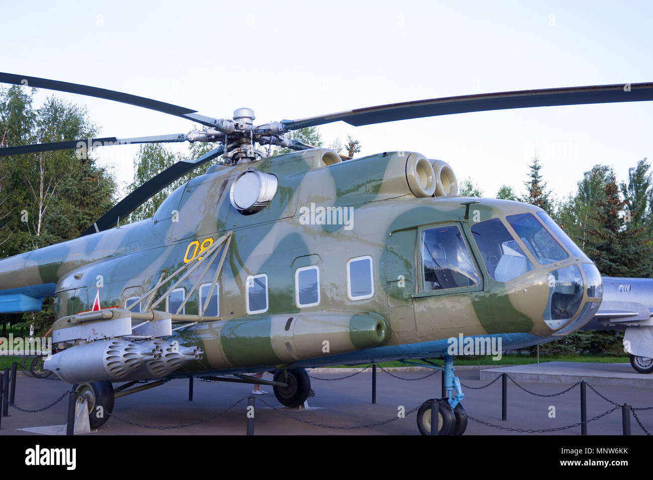
[[[463,243],[470,255],[471,263],[473,264],[477,275],[479,276],[479,283],[477,285],[468,285],[463,287],[453,287],[446,289],[426,290],[424,289],[424,260],[422,259],[422,232],[425,230],[441,228],[441,227],[458,227],[462,235]],[[485,289],[485,266],[481,266],[478,261],[478,252],[475,250],[472,242],[470,242],[470,231],[468,225],[460,221],[443,221],[438,223],[430,223],[428,225],[420,225],[417,229],[417,241],[415,242],[415,275],[417,276],[417,293],[413,294],[413,298],[422,296],[439,296],[439,295],[456,295],[458,293],[469,293],[472,291],[483,291]]]

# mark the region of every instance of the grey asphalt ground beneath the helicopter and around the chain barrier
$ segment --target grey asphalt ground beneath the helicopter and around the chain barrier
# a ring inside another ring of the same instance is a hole
[[[342,377],[338,373],[313,372],[311,375],[323,380],[313,379],[312,388],[315,397],[309,398],[311,407],[323,407],[308,411],[289,411],[289,413],[304,421],[323,423],[332,426],[356,426],[385,421],[396,417],[398,409],[403,406],[406,412],[419,406],[424,400],[439,396],[439,372],[426,379],[420,379],[429,372],[393,372],[394,374],[414,381],[406,381],[390,377],[384,372],[377,374],[377,404],[371,403],[372,374],[363,372],[356,376],[337,380],[324,381]],[[464,385],[481,387],[488,383],[479,380],[479,370],[460,369],[456,373]],[[69,389],[62,381],[35,379],[19,374],[16,389],[16,404],[23,408],[40,408],[56,400]],[[590,384],[592,381],[590,381]],[[525,383],[523,386],[540,394],[560,392],[573,383]],[[251,391],[248,385],[236,383],[209,383],[195,379],[194,401],[188,401],[188,381],[175,380],[161,387],[125,396],[116,400],[114,413],[123,419],[155,426],[167,426],[190,423],[221,409],[227,408],[239,398],[247,396]],[[648,388],[602,386],[597,390],[618,404],[628,402],[633,406],[653,406],[653,395]],[[270,404],[279,406],[270,394],[262,398]],[[524,392],[513,383],[508,382],[508,421],[501,421],[501,381],[496,381],[485,389],[472,390],[464,388],[466,398],[463,402],[467,412],[472,417],[485,422],[522,429],[547,429],[577,423],[580,420],[580,390],[579,387],[561,396],[542,398]],[[321,428],[300,423],[284,417],[270,408],[263,408],[257,398],[255,410],[255,433],[270,435],[329,435],[329,434],[379,434],[379,435],[415,435],[418,434],[415,413],[374,428],[358,430],[336,430]],[[588,418],[599,415],[613,406],[599,398],[588,389]],[[550,406],[555,408],[556,417],[549,418]],[[67,400],[40,413],[21,413],[9,408],[10,417],[2,419],[0,435],[27,435],[29,432],[18,430],[31,426],[46,426],[65,423]],[[648,430],[653,431],[653,409],[637,413]],[[632,432],[643,434],[634,419],[631,419]],[[112,418],[104,426],[90,435],[111,434],[227,434],[241,435],[246,432],[246,401],[223,413],[217,418],[187,428],[173,430],[151,430],[122,423]],[[557,434],[580,434],[579,426],[562,430]],[[620,409],[606,417],[588,424],[589,434],[622,434]],[[498,430],[489,426],[470,421],[467,435],[479,434],[513,434],[506,430]]]

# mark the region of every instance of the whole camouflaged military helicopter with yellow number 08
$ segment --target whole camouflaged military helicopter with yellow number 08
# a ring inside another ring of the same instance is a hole
[[[464,393],[450,340],[500,339],[503,349],[515,349],[573,332],[599,309],[599,271],[543,210],[458,196],[445,161],[417,152],[343,161],[285,134],[334,121],[370,125],[653,100],[653,83],[586,86],[255,125],[249,108],[218,119],[67,82],[7,73],[0,82],[118,101],[204,125],[187,134],[7,146],[1,156],[150,142],[217,145],[151,178],[80,238],[0,260],[0,312],[39,311],[42,298],[54,296],[52,339],[61,351],[44,368],[88,398],[93,428],[108,419],[100,406],[111,412],[114,398],[169,379],[271,385],[281,404],[296,408],[310,392],[304,368],[404,360],[443,370],[447,396],[438,399],[438,433],[462,434]],[[266,145],[294,151],[268,157]],[[173,191],[153,217],[119,224],[219,155],[226,165],[212,165]],[[432,357],[443,357],[443,366],[426,360]],[[268,371],[272,381],[247,375]],[[422,434],[432,428],[429,405],[417,415]]]

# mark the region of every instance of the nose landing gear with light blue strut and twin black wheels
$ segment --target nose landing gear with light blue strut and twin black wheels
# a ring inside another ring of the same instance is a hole
[[[443,370],[445,377],[445,392],[447,396],[438,402],[438,435],[462,435],[467,428],[467,416],[465,408],[460,403],[465,394],[462,392],[460,380],[453,374],[453,357],[445,355],[445,366],[441,367],[428,360],[422,360],[429,368]],[[412,362],[406,362],[412,363]],[[415,364],[417,365],[417,364]],[[454,393],[455,390],[455,393]],[[431,399],[434,400],[434,399]],[[431,407],[430,400],[426,400],[417,411],[417,428],[422,435],[431,433]]]

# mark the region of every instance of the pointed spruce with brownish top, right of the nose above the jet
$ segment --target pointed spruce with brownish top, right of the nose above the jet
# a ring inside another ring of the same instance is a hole
[[[626,204],[612,170],[607,174],[605,198],[596,212],[597,227],[590,232],[586,253],[605,276],[650,277],[653,274],[650,236],[643,228],[631,227],[622,211]]]

